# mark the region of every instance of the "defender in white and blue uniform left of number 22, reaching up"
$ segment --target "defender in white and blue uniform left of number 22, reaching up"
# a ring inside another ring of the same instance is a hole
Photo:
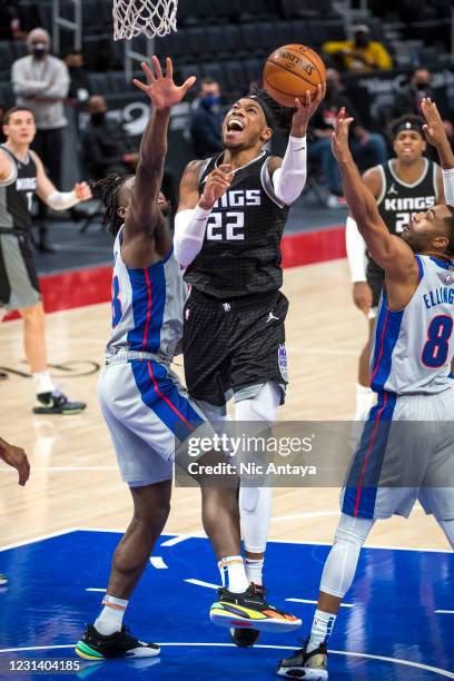
[[[76,647],[80,657],[90,660],[159,654],[159,645],[128,633],[122,618],[169,514],[176,441],[214,433],[170,369],[174,356],[181,352],[187,288],[174,256],[171,233],[162,215],[167,201],[160,193],[170,109],[196,79],[190,77],[177,87],[171,60],[167,59],[165,76],[156,57],[152,62],[155,72],[142,63],[147,83],[134,81],[152,102],[136,175],[114,175],[100,182],[106,218],[116,240],[112,332],[99,399],[121,476],[132,495],[134,516],[114,555],[103,609]],[[218,461],[225,463],[221,454]],[[268,630],[298,626],[300,620],[264,605],[249,589],[240,556],[237,487],[209,486],[209,475],[205,480],[200,475],[197,482],[204,529],[223,563],[223,575],[226,573],[226,588],[220,590],[223,606],[217,602],[211,606],[211,620],[224,626],[231,619],[245,626],[253,620]]]

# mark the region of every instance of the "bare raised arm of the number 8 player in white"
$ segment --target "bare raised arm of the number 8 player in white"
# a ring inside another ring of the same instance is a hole
[[[417,282],[417,264],[407,244],[389,234],[383,221],[376,199],[363,182],[348,147],[348,128],[353,119],[346,117],[345,109],[339,111],[333,132],[333,154],[337,159],[342,176],[344,196],[351,214],[356,221],[367,248],[385,272],[387,279],[406,283]]]

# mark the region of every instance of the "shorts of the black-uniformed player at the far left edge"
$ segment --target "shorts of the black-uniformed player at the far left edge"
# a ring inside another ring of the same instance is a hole
[[[40,298],[29,234],[0,229],[0,307],[23,309]]]

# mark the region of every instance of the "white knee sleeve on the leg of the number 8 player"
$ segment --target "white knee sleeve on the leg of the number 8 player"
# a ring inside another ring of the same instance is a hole
[[[359,552],[374,525],[374,521],[342,514],[334,544],[326,560],[320,591],[343,599],[352,586]]]

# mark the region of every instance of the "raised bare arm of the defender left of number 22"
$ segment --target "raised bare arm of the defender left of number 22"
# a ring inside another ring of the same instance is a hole
[[[152,57],[152,66],[155,71],[145,62],[141,65],[147,79],[146,83],[134,80],[134,85],[148,95],[154,109],[140,142],[136,180],[125,220],[127,237],[138,233],[150,235],[158,224],[156,218],[160,216],[160,209],[157,201],[167,152],[170,109],[182,100],[196,81],[191,76],[182,86],[177,87],[174,82],[174,68],[169,58],[166,59],[165,76],[157,57]]]

